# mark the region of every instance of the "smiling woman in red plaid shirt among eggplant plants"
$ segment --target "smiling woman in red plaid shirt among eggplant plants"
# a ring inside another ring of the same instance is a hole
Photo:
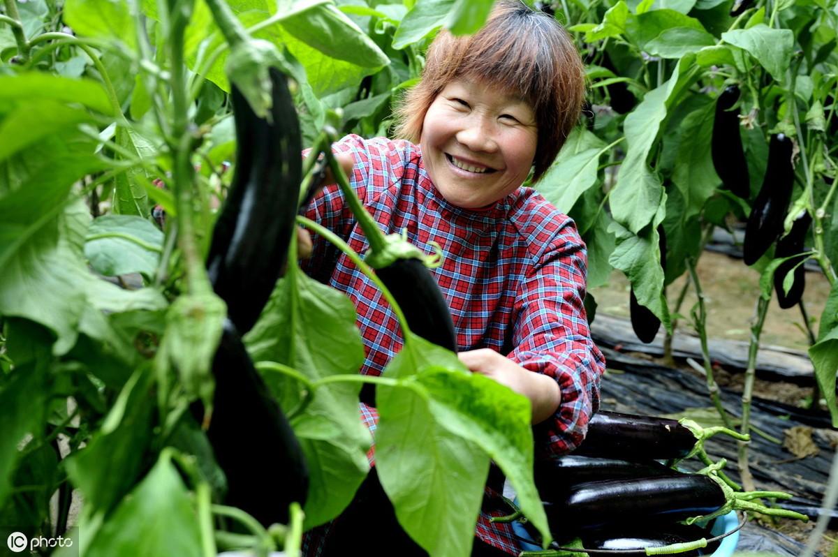
[[[306,212],[359,253],[372,245],[375,254],[376,225],[425,252],[442,251],[432,276],[451,310],[460,362],[525,397],[541,458],[582,441],[604,370],[582,304],[582,240],[571,219],[522,187],[556,157],[578,120],[583,90],[582,62],[564,29],[518,0],[502,0],[477,34],[442,32],[434,39],[422,80],[399,108],[398,134],[405,139],[349,135],[332,146],[351,161],[349,184],[323,188]],[[355,195],[375,219],[365,230],[349,207]],[[365,343],[361,373],[382,374],[406,344],[373,281],[321,237],[303,269],[354,302]],[[415,276],[403,282],[400,291],[412,289],[412,298],[422,299]],[[387,399],[377,408],[361,400],[365,424],[385,445],[393,435]],[[411,442],[427,439],[401,440]],[[360,488],[328,539],[309,536],[310,554],[323,544],[325,554],[355,545],[367,554],[414,554],[411,537],[427,542],[410,521],[393,519],[388,499],[408,495],[399,492],[403,482],[388,455],[382,449],[375,479]],[[518,553],[509,525],[490,520],[505,513],[502,485],[500,473],[489,474],[473,554]],[[416,488],[430,493],[433,486]],[[377,536],[370,536],[370,524],[380,527]]]

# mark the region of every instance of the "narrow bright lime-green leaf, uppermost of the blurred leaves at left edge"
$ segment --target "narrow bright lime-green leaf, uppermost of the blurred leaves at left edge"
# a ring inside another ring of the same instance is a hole
[[[44,72],[0,75],[0,101],[35,99],[80,104],[102,114],[113,114],[111,101],[98,81],[49,75]]]

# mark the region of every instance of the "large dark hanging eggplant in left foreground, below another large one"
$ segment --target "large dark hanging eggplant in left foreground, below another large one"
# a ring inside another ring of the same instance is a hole
[[[215,400],[207,436],[227,477],[225,503],[265,527],[287,524],[288,505],[306,502],[308,465],[230,319],[225,319],[212,373]]]

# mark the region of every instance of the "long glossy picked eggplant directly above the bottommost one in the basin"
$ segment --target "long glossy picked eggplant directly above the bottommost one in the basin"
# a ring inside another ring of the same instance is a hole
[[[561,502],[545,503],[551,532],[609,524],[683,520],[715,513],[727,503],[722,487],[703,474],[580,483]]]

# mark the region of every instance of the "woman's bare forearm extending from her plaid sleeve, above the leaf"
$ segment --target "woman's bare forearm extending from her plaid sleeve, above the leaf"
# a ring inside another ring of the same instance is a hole
[[[556,379],[515,364],[510,358],[490,348],[458,353],[460,361],[475,374],[485,375],[530,399],[532,423],[537,424],[556,413],[561,390]]]

